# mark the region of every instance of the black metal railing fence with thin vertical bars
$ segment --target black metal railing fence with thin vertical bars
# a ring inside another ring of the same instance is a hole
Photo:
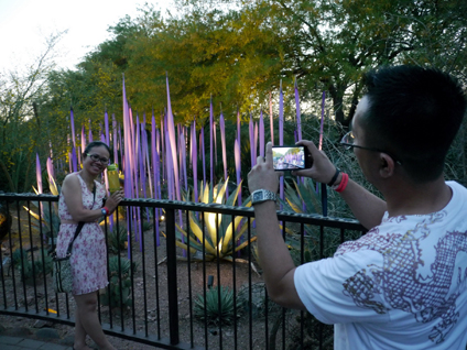
[[[0,250],[0,314],[74,326],[74,299],[53,292],[50,273],[57,200],[0,194],[1,218],[12,216],[3,238],[7,250]],[[278,215],[297,264],[329,256],[340,242],[365,232],[354,220]],[[102,226],[109,286],[99,293],[98,313],[106,333],[163,349],[333,348],[333,328],[268,298],[256,258],[252,209],[139,199],[122,201],[115,216],[120,220]],[[206,221],[213,219],[214,232]],[[241,241],[247,243],[225,255],[222,232],[229,225],[234,234],[245,226]],[[0,233],[6,227],[8,222]],[[197,233],[197,240],[183,239],[182,232]],[[208,238],[217,240],[214,253]]]

